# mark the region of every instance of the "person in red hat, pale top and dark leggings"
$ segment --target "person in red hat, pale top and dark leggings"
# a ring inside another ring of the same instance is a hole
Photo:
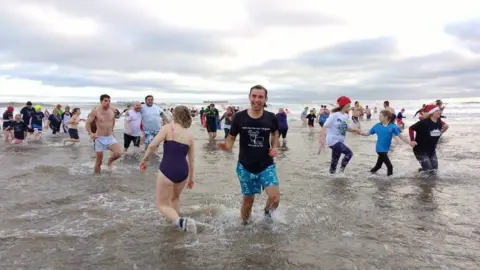
[[[332,149],[332,160],[330,162],[330,173],[334,174],[337,170],[338,160],[341,154],[344,154],[340,171],[345,171],[348,162],[353,156],[352,151],[348,148],[345,142],[347,131],[358,133],[358,129],[353,129],[348,126],[348,111],[350,110],[350,98],[341,96],[337,99],[338,107],[332,110],[332,114],[328,117],[323,125],[320,133],[320,147],[325,143]]]

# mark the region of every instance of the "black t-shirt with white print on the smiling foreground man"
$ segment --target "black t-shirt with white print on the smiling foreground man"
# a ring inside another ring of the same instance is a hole
[[[250,173],[260,173],[273,164],[270,151],[270,134],[278,131],[275,114],[264,111],[254,119],[247,110],[236,113],[232,119],[231,136],[240,134],[238,162]]]

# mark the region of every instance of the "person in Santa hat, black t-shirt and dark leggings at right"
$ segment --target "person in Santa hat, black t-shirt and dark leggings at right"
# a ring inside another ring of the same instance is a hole
[[[440,120],[440,108],[427,105],[424,109],[425,119],[418,121],[409,128],[413,153],[420,162],[420,172],[434,175],[438,170],[438,159],[435,151],[440,136],[447,131],[448,125]]]

